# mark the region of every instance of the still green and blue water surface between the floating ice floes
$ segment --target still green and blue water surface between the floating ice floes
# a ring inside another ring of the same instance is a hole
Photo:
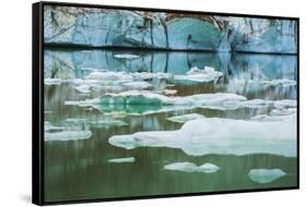
[[[122,53],[135,56],[130,59],[115,57]],[[263,87],[253,84],[253,81],[296,81],[296,56],[45,49],[45,78],[70,80],[61,84],[45,85],[45,131],[48,126],[48,132],[52,133],[60,133],[60,127],[92,132],[91,138],[45,142],[46,200],[295,186],[297,178],[294,157],[267,154],[189,156],[176,148],[140,147],[127,150],[108,143],[108,138],[114,135],[178,130],[184,123],[168,121],[167,118],[173,115],[199,113],[206,118],[250,120],[257,114],[269,114],[272,107],[235,110],[192,108],[130,115],[120,110],[106,113],[91,107],[64,105],[64,101],[92,99],[106,93],[129,89],[99,85],[90,93],[81,93],[71,83],[71,80],[84,80],[93,72],[161,72],[184,75],[194,66],[214,68],[223,76],[208,83],[152,78],[147,80],[151,86],[146,89],[165,96],[232,93],[248,100],[296,99],[296,85]],[[166,92],[170,90],[175,94],[167,95]],[[134,157],[135,161],[108,162],[109,159],[125,157]],[[178,161],[193,162],[197,166],[210,162],[221,169],[209,174],[164,170],[164,166]],[[286,175],[273,182],[257,183],[248,176],[251,169],[281,169]]]

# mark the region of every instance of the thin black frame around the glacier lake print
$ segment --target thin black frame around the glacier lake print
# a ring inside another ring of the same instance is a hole
[[[45,202],[44,199],[44,5],[64,5],[64,7],[85,7],[101,8],[113,10],[138,10],[151,12],[174,12],[188,14],[209,14],[221,16],[238,16],[238,17],[255,17],[255,19],[280,19],[292,20],[297,22],[297,184],[291,187],[270,187],[270,188],[253,188],[253,190],[235,190],[221,192],[199,192],[172,195],[152,195],[152,196],[133,196],[119,198],[97,198],[69,202]],[[75,204],[75,203],[92,203],[92,202],[108,202],[108,200],[132,200],[146,198],[164,198],[177,196],[200,196],[211,194],[231,194],[231,193],[248,193],[248,192],[267,192],[282,190],[298,190],[299,188],[299,19],[288,16],[271,16],[271,15],[255,15],[239,13],[220,13],[220,12],[203,12],[203,11],[185,11],[169,9],[153,9],[153,8],[132,8],[118,5],[102,5],[102,4],[85,4],[85,3],[64,3],[64,2],[37,2],[33,3],[33,20],[32,20],[32,202],[36,205],[59,205],[59,204]]]

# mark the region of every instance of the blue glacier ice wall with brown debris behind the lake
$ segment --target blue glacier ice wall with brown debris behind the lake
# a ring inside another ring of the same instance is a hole
[[[290,20],[45,7],[44,40],[88,47],[296,53]]]

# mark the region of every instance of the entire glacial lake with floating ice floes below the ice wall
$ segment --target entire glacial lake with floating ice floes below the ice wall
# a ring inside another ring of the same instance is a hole
[[[44,52],[46,202],[296,186],[296,56]]]

